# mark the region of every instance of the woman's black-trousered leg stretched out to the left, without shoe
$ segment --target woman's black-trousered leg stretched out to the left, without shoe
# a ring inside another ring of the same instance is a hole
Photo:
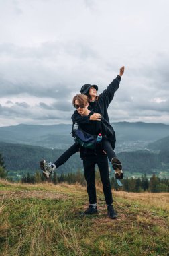
[[[78,152],[79,150],[79,145],[77,143],[74,143],[68,150],[66,150],[57,160],[54,162],[56,165],[56,168],[64,164],[70,156]]]

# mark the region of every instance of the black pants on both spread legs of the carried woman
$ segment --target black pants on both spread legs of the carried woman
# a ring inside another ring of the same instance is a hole
[[[111,143],[109,141],[109,139],[107,139],[107,137],[103,137],[102,141],[102,148],[103,150],[107,153],[107,156],[109,158],[109,161],[111,162],[112,158],[115,158],[115,152],[111,146]],[[64,164],[68,158],[70,158],[70,156],[72,156],[73,154],[75,154],[76,152],[79,151],[79,145],[74,143],[70,148],[68,148],[68,150],[66,150],[57,160],[56,162],[54,162],[54,164],[56,165],[56,168],[58,168],[59,166],[61,166],[62,164]]]

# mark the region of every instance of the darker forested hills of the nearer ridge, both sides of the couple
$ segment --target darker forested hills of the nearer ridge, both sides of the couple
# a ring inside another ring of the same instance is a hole
[[[11,177],[18,174],[23,175],[27,172],[35,173],[40,170],[39,162],[41,159],[55,162],[64,150],[42,148],[40,146],[30,146],[23,144],[13,144],[0,142],[0,152],[3,154],[5,165]],[[163,152],[154,153],[147,150],[135,152],[121,152],[117,154],[123,164],[126,176],[152,174],[156,172],[169,173],[168,155]],[[76,153],[65,164],[57,170],[58,174],[76,172],[82,170],[82,160],[80,154]]]

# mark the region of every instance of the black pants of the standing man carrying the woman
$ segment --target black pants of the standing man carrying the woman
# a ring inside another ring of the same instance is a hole
[[[111,184],[109,179],[109,168],[107,162],[107,156],[93,156],[92,158],[85,158],[83,160],[84,177],[87,181],[87,193],[89,197],[89,203],[97,203],[96,187],[95,187],[95,165],[98,165],[101,176],[101,182],[103,185],[103,193],[105,195],[105,201],[107,205],[113,203],[113,197],[111,192]]]

